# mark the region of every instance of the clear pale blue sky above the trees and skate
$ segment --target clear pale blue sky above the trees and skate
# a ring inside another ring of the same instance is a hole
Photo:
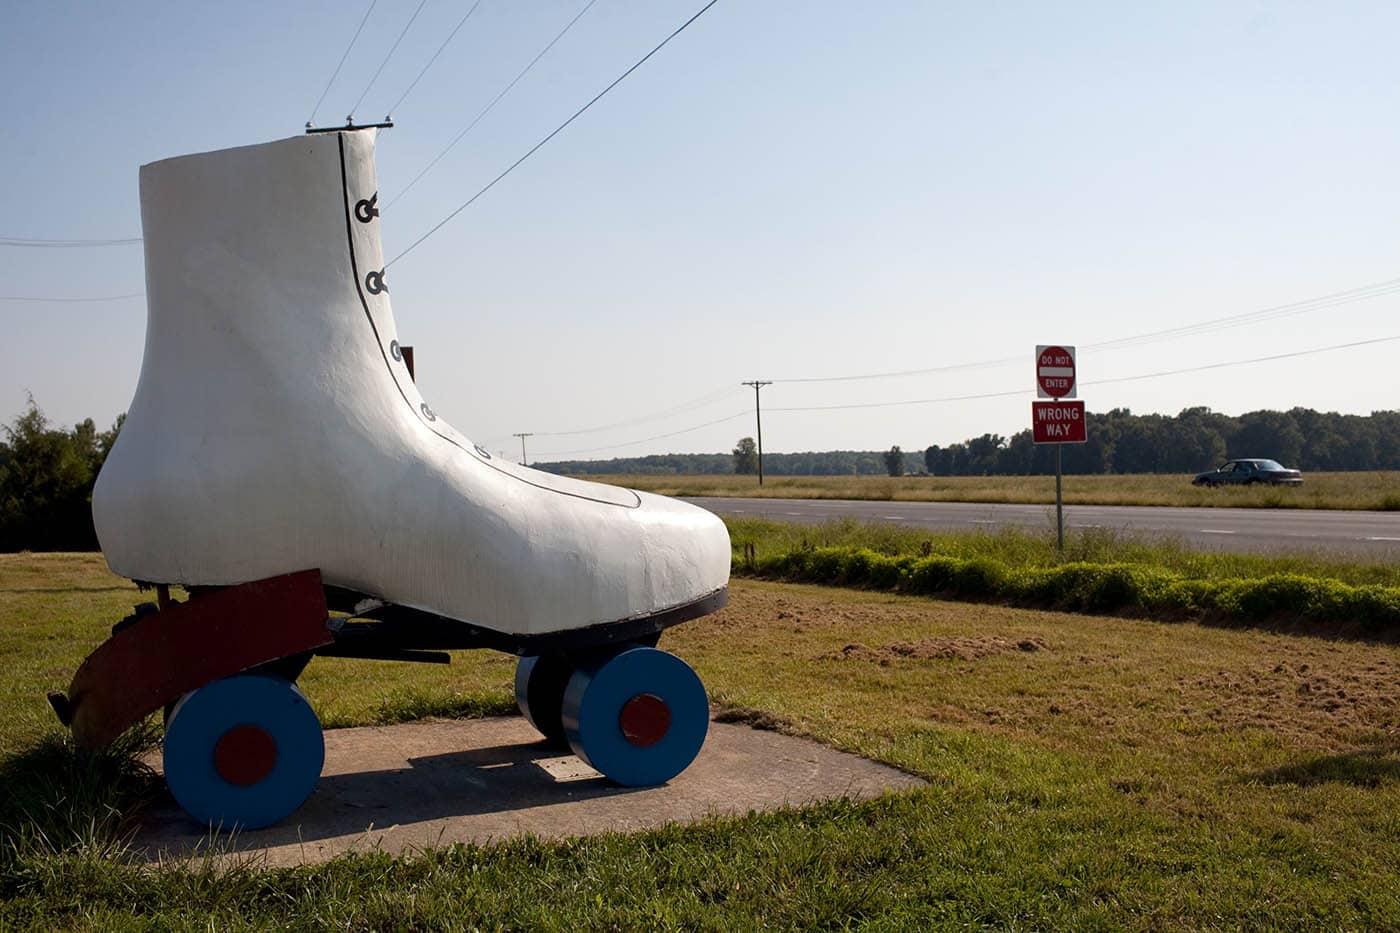
[[[382,119],[472,3],[4,4],[0,237],[140,237],[144,163]],[[703,0],[595,0],[399,199],[585,6],[482,0],[393,108],[385,255]],[[766,451],[1009,436],[1040,343],[1089,410],[1393,409],[1396,35],[1390,3],[720,0],[393,265],[400,340],[531,461],[729,450],[746,380]],[[11,298],[141,293],[141,247],[0,245],[0,420],[109,424],[144,301]]]

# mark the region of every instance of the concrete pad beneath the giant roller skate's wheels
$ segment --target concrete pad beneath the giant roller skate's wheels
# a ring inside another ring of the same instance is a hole
[[[510,836],[630,832],[710,815],[833,797],[864,800],[925,782],[816,742],[710,723],[694,763],[661,787],[619,787],[577,756],[547,748],[521,717],[337,728],[311,799],[287,821],[220,838],[214,850],[269,864],[344,852],[412,852]],[[210,850],[210,834],[172,799],[146,814],[146,857]]]

